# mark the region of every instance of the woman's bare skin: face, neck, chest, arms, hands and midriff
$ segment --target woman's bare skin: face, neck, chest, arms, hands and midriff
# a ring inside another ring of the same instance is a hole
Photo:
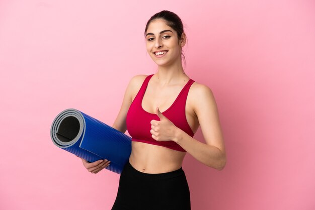
[[[181,61],[181,50],[186,44],[185,33],[178,39],[174,29],[167,26],[164,20],[157,19],[149,24],[146,34],[146,50],[158,66],[157,72],[149,80],[141,104],[146,112],[155,113],[160,118],[160,121],[150,122],[152,138],[156,141],[172,140],[196,160],[209,167],[222,170],[226,164],[225,147],[216,102],[209,87],[194,82],[186,101],[187,122],[194,133],[199,126],[201,127],[205,143],[190,137],[163,115],[190,79],[185,74]],[[154,52],[160,50],[168,52],[163,57],[156,57]],[[112,125],[122,133],[127,130],[126,115],[130,104],[146,76],[134,76],[127,86],[121,109]],[[135,169],[144,173],[165,173],[182,167],[186,154],[186,152],[166,147],[132,142],[129,162]],[[110,163],[108,160],[93,163],[84,159],[82,161],[92,173],[98,173]]]

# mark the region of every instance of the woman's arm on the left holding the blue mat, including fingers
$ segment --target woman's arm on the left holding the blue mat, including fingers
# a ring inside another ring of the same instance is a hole
[[[139,91],[140,86],[145,77],[146,75],[136,75],[132,77],[131,80],[129,81],[129,84],[125,90],[125,95],[121,104],[120,111],[116,117],[115,122],[112,125],[114,129],[122,133],[126,132],[127,130],[126,116],[127,116],[127,112],[129,110],[129,107],[133,99],[132,97],[135,97],[135,94]],[[98,160],[92,163],[86,161],[83,158],[81,159],[82,159],[84,167],[86,167],[86,169],[88,169],[88,171],[91,173],[98,173],[110,164],[110,161],[106,159]]]

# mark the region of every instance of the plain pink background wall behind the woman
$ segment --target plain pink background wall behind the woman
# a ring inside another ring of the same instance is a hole
[[[111,208],[119,175],[88,173],[50,126],[68,108],[112,125],[129,79],[156,70],[143,32],[164,9],[185,24],[186,73],[214,92],[226,144],[222,171],[187,155],[192,209],[314,209],[310,0],[1,1],[0,209]]]

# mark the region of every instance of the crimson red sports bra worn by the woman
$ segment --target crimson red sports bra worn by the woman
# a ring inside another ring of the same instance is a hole
[[[144,79],[139,92],[137,93],[136,97],[134,98],[130,105],[126,117],[128,133],[132,137],[132,141],[159,145],[173,150],[186,152],[186,150],[184,150],[180,145],[178,145],[174,141],[159,142],[154,140],[151,136],[152,134],[150,133],[151,130],[150,122],[151,120],[160,121],[160,118],[156,114],[148,113],[145,110],[143,110],[141,104],[147,84],[152,76],[153,74],[148,75]],[[162,113],[165,117],[172,121],[176,127],[182,129],[191,137],[194,136],[194,132],[191,130],[189,124],[187,123],[185,106],[188,91],[193,82],[194,80],[190,79],[183,87],[183,89],[181,90],[181,92],[171,105],[171,107]]]

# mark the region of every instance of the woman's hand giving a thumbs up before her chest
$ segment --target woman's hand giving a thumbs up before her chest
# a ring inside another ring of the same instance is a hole
[[[177,127],[160,112],[158,107],[155,113],[160,118],[160,121],[151,120],[150,122],[152,138],[156,141],[172,141]]]

